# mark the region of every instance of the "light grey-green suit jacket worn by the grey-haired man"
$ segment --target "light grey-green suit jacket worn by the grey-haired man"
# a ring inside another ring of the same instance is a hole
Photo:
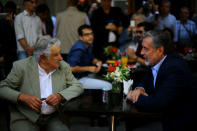
[[[74,78],[69,65],[64,61],[60,62],[60,67],[52,74],[52,90],[53,93],[60,93],[66,100],[83,92],[81,84]],[[41,97],[38,64],[34,57],[14,62],[10,74],[0,82],[0,97],[13,103],[10,107],[11,124],[19,119],[36,122],[40,112],[18,103],[20,93]]]

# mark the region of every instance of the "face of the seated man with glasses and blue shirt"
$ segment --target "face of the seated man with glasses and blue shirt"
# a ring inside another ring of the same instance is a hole
[[[86,45],[90,45],[94,41],[94,35],[92,29],[83,29],[82,36],[79,36],[79,39],[83,41]]]

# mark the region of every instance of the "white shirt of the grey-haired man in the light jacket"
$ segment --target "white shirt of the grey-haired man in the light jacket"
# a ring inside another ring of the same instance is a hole
[[[52,74],[55,70],[47,74],[45,70],[40,67],[39,64],[38,64],[38,70],[39,70],[39,79],[40,79],[41,98],[47,98],[48,96],[53,94]],[[53,112],[55,112],[55,107],[48,105],[45,102],[45,100],[42,101],[41,114],[47,115]]]

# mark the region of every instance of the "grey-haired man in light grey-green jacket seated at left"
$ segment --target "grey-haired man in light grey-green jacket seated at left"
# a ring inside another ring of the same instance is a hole
[[[62,61],[60,41],[49,36],[35,44],[34,55],[14,62],[0,82],[0,97],[10,106],[12,131],[67,131],[57,107],[83,92],[70,67]]]

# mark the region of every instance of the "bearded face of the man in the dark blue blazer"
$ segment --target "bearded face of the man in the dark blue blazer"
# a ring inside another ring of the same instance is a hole
[[[152,37],[145,37],[142,41],[142,51],[141,54],[144,56],[145,61],[150,66],[154,66],[164,57],[163,47],[154,49],[152,46]]]

